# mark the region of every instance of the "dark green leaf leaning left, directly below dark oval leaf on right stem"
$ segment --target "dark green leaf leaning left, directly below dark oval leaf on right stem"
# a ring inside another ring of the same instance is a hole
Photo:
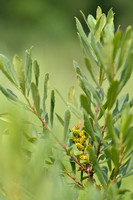
[[[118,137],[117,137],[117,134],[115,133],[115,130],[113,127],[112,115],[109,113],[107,114],[107,117],[106,117],[106,126],[108,129],[108,134],[111,137],[112,142],[116,146],[118,144]]]

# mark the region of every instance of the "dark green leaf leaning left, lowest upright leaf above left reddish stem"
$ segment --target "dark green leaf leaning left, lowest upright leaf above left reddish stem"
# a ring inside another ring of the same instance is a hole
[[[39,91],[35,83],[31,83],[31,92],[32,92],[32,98],[34,101],[34,106],[36,108],[37,113],[39,114],[40,111],[40,96]]]

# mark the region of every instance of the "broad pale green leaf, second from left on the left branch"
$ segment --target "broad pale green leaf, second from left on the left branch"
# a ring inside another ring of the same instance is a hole
[[[24,64],[22,59],[19,56],[15,55],[13,58],[13,65],[19,80],[19,84],[23,94],[25,95],[25,71],[24,71]]]

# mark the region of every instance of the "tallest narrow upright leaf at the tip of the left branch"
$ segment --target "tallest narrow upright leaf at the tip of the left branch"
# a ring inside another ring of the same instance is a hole
[[[32,59],[31,59],[32,48],[33,47],[31,47],[29,49],[29,51],[26,50],[26,52],[25,52],[25,57],[26,57],[25,71],[26,71],[27,96],[29,96],[31,78],[32,78]]]

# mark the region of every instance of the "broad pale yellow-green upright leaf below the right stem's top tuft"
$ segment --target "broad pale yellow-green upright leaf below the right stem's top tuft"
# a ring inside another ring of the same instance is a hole
[[[113,80],[114,76],[113,48],[112,40],[105,40],[103,45],[103,66],[110,82]]]

